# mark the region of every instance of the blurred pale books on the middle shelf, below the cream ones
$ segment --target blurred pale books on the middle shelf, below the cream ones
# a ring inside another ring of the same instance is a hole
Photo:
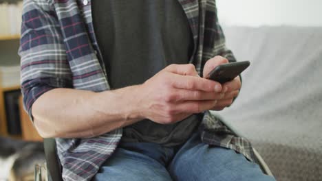
[[[0,87],[19,86],[20,84],[20,65],[0,65]]]

